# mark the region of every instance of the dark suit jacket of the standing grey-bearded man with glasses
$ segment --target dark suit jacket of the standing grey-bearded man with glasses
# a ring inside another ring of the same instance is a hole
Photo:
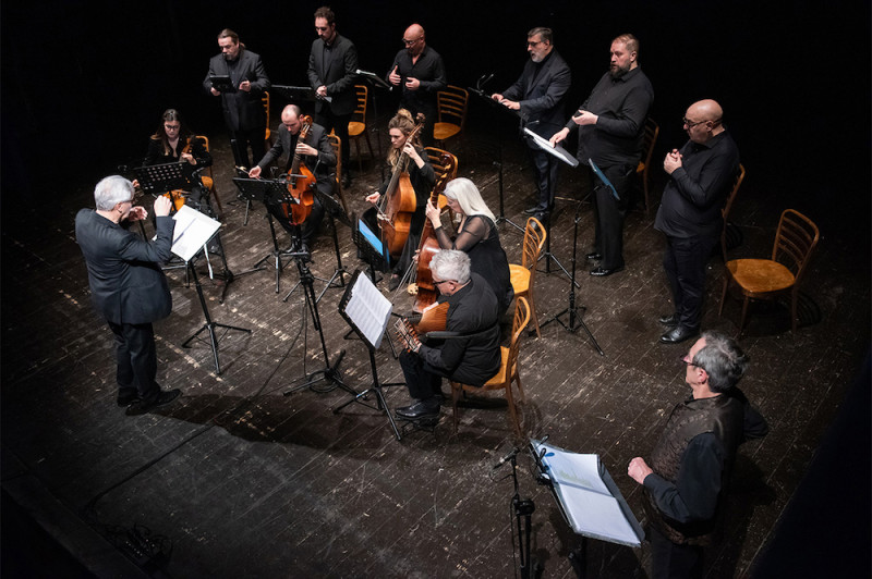
[[[520,78],[502,96],[520,103],[522,126],[531,125],[533,133],[550,138],[564,126],[565,97],[571,83],[569,64],[552,50],[542,64],[528,60]]]

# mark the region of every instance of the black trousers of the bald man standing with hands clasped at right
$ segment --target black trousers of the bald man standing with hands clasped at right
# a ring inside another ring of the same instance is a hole
[[[705,264],[717,244],[717,236],[666,237],[663,269],[673,291],[678,323],[699,329],[705,295]]]

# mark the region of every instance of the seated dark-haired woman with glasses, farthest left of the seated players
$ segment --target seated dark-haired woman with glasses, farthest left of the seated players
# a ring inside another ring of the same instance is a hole
[[[203,146],[203,140],[194,136],[194,133],[185,126],[179,111],[167,109],[161,115],[160,126],[148,139],[148,152],[143,161],[143,167],[179,162],[187,163],[191,171],[194,172],[211,167],[211,155]],[[184,194],[198,208],[205,189],[199,184],[199,178],[195,181],[198,184]]]

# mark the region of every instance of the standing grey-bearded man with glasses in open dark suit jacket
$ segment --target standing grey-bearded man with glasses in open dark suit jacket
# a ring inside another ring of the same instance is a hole
[[[554,33],[550,28],[536,27],[526,33],[526,51],[530,60],[524,64],[521,76],[502,93],[494,93],[491,98],[521,115],[521,126],[549,138],[566,118],[564,97],[569,91],[572,74],[569,65],[554,49]],[[557,189],[557,165],[550,155],[543,151],[529,137],[525,139],[533,157],[535,169],[536,205],[524,210],[525,213],[544,219],[554,205]]]

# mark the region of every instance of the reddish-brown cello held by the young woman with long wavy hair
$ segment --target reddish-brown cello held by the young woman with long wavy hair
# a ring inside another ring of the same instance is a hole
[[[415,135],[424,126],[424,115],[417,113],[415,127],[405,137],[405,143],[413,143]],[[393,165],[393,173],[390,183],[385,190],[378,208],[378,225],[382,229],[382,241],[387,244],[390,257],[397,258],[402,254],[405,239],[409,238],[409,230],[412,225],[412,217],[417,208],[415,189],[409,178],[409,156],[400,153],[400,158]]]

